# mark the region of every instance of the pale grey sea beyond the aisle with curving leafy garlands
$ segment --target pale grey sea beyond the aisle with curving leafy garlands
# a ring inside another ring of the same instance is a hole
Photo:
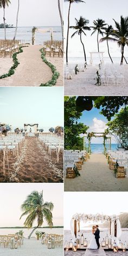
[[[35,26],[36,27],[36,26]],[[32,30],[33,27],[18,27],[17,28],[17,40],[24,40],[25,43],[31,43]],[[40,29],[48,30],[53,28],[53,40],[62,40],[61,27],[37,27]],[[7,29],[7,39],[13,39],[15,33],[15,28]],[[0,39],[4,39],[4,29],[0,29]],[[35,44],[42,44],[44,41],[50,40],[50,32],[47,33],[35,33]]]

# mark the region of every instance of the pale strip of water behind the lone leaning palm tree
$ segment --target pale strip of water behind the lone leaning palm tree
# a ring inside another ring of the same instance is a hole
[[[0,235],[8,235],[8,234],[16,234],[20,229],[22,228],[0,228]],[[24,238],[27,238],[28,235],[31,233],[31,231],[33,230],[33,228],[23,228],[23,236]],[[36,237],[35,232],[39,230],[41,232],[45,232],[46,234],[58,234],[58,235],[62,235],[63,234],[63,228],[39,228],[36,229],[34,231],[34,233],[32,234],[33,237]]]

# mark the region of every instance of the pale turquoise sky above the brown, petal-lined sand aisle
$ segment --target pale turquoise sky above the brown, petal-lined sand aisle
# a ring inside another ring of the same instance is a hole
[[[1,87],[0,122],[23,127],[38,123],[39,128],[63,126],[63,88]]]

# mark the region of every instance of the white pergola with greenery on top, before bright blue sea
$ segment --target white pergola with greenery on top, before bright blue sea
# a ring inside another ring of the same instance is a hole
[[[91,153],[91,139],[93,137],[103,137],[104,154],[106,155],[106,145],[108,145],[108,149],[111,150],[111,137],[108,137],[104,132],[89,132],[88,135],[84,135],[84,150]]]

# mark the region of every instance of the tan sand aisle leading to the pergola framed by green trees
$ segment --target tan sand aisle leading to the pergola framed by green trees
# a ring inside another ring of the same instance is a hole
[[[92,153],[82,165],[81,176],[65,179],[65,191],[127,191],[128,178],[116,178],[103,154]]]

